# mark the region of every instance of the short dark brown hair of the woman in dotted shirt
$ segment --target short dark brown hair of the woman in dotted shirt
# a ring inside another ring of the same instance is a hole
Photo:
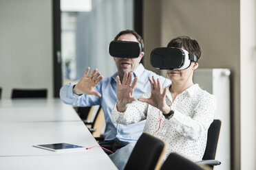
[[[189,53],[193,53],[200,59],[202,50],[197,40],[193,40],[189,36],[178,36],[173,38],[167,45],[167,47],[183,48]]]

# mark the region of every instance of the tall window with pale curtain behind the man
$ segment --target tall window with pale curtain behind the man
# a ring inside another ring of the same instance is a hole
[[[63,84],[79,80],[88,66],[113,75],[107,48],[124,29],[134,29],[134,0],[61,0]]]

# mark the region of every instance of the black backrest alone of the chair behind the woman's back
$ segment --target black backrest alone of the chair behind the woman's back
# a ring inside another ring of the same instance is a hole
[[[211,123],[209,130],[208,130],[206,149],[204,151],[204,156],[203,156],[202,160],[214,160],[215,159],[215,154],[216,154],[216,150],[217,150],[217,143],[219,141],[221,126],[222,126],[222,121],[220,121],[219,119],[215,119],[215,120],[213,120],[213,123]]]

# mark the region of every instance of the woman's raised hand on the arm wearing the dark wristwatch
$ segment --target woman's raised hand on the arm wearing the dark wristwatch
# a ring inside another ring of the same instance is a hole
[[[149,82],[151,84],[151,97],[149,99],[138,98],[138,101],[150,104],[151,106],[154,106],[161,110],[164,114],[169,113],[171,111],[171,107],[168,106],[165,101],[167,87],[162,90],[159,79],[155,80],[154,77],[152,77],[152,80],[149,78]]]

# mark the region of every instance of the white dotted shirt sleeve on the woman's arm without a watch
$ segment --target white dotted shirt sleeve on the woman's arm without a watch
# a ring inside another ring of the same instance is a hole
[[[149,98],[151,93],[145,93],[141,97]],[[125,112],[118,112],[116,104],[111,112],[111,119],[114,123],[129,125],[131,123],[138,123],[139,121],[147,119],[147,109],[149,105],[141,101],[133,101],[128,104]]]

